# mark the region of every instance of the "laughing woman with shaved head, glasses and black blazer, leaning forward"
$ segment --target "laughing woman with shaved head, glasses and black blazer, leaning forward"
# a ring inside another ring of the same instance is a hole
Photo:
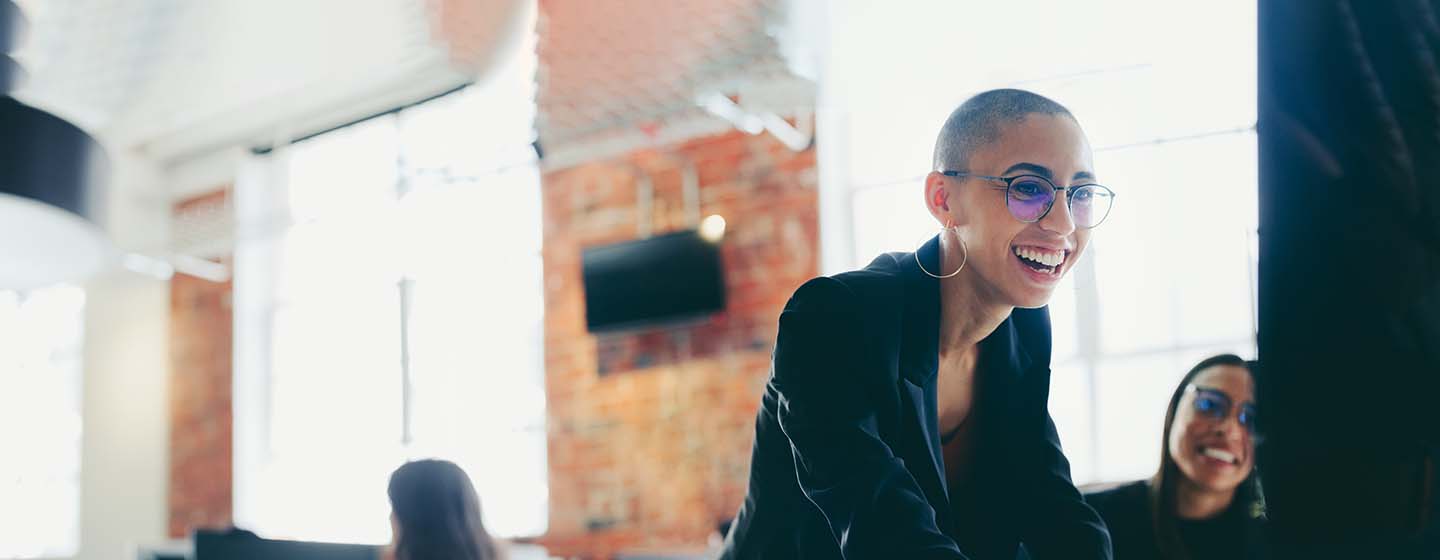
[[[1113,193],[1060,104],[975,95],[923,203],[940,233],[780,314],[723,559],[1109,559],[1047,410],[1045,304]]]

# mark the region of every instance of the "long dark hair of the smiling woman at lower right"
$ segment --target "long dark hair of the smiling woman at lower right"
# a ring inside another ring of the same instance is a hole
[[[1169,455],[1171,425],[1175,423],[1175,413],[1179,407],[1179,399],[1185,396],[1185,387],[1188,387],[1201,371],[1215,366],[1236,366],[1244,369],[1250,373],[1250,380],[1254,381],[1256,371],[1251,363],[1234,354],[1220,354],[1204,358],[1195,364],[1195,367],[1191,367],[1189,371],[1185,373],[1185,377],[1179,380],[1179,386],[1175,387],[1175,393],[1171,394],[1169,406],[1165,409],[1165,429],[1161,436],[1161,466],[1155,471],[1155,477],[1151,478],[1151,527],[1155,528],[1155,544],[1159,546],[1162,559],[1189,557],[1189,554],[1185,553],[1184,543],[1181,543],[1179,524],[1176,523],[1175,515],[1175,485],[1185,475],[1179,472],[1179,465],[1176,465],[1175,459]],[[1254,464],[1251,462],[1251,465]],[[1240,482],[1238,488],[1236,488],[1236,495],[1230,501],[1230,507],[1225,510],[1225,514],[1231,512],[1240,512],[1251,518],[1264,515],[1264,498],[1260,492],[1260,478],[1256,475],[1254,466],[1250,468],[1250,475]]]

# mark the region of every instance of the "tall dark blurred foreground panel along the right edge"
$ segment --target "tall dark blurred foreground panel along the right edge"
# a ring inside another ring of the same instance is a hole
[[[1260,0],[1260,474],[1282,557],[1440,557],[1440,0]]]

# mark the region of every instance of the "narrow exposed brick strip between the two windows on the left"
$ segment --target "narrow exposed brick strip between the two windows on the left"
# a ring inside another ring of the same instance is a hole
[[[225,191],[174,212],[215,203]],[[230,282],[170,279],[170,536],[230,524]]]

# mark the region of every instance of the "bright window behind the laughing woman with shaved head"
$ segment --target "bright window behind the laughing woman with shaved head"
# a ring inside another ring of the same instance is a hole
[[[959,101],[1018,86],[1060,102],[1117,197],[1050,301],[1050,412],[1077,484],[1155,472],[1164,410],[1132,403],[1164,402],[1207,356],[1256,354],[1256,3],[827,6],[834,109],[821,108],[832,122],[818,145],[834,179],[821,180],[821,204],[835,210],[821,219],[821,246],[838,256],[822,271],[935,235],[913,186]]]

